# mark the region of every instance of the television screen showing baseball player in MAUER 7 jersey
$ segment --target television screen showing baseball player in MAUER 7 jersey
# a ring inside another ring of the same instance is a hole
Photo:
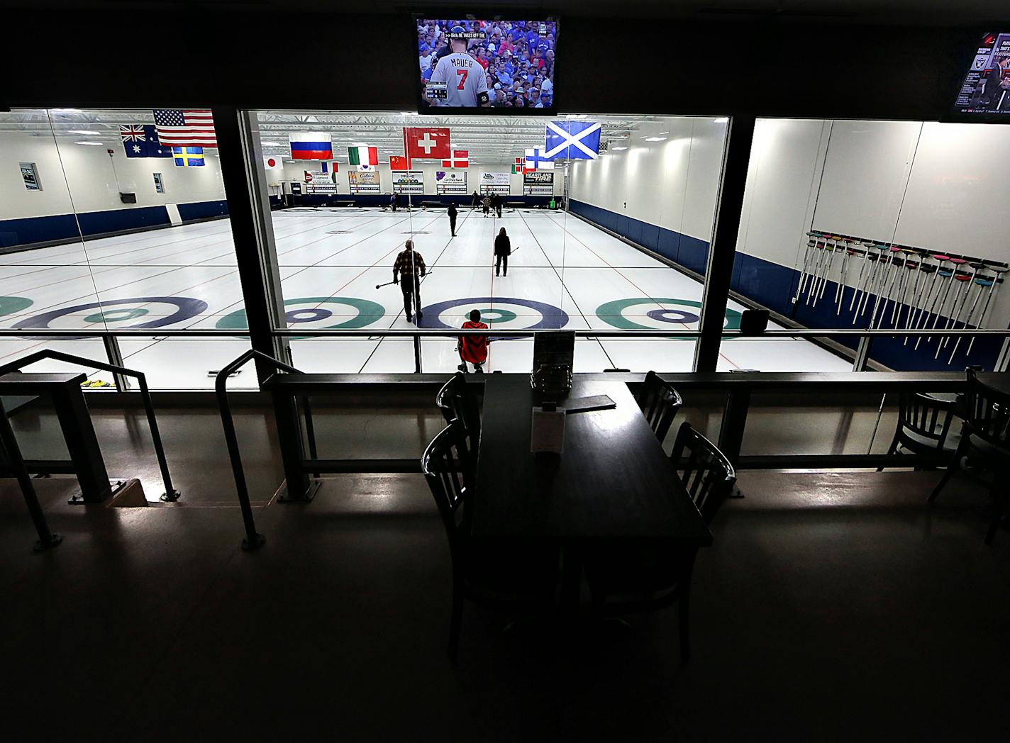
[[[421,113],[557,109],[557,19],[414,19]]]

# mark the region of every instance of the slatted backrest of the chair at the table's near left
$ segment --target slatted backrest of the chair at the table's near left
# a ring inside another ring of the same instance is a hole
[[[435,499],[452,569],[462,569],[464,542],[470,536],[470,498],[474,492],[474,461],[467,447],[467,433],[459,420],[443,428],[421,456],[421,471]]]

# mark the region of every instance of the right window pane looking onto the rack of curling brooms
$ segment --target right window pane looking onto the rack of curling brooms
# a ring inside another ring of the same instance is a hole
[[[1006,327],[1008,156],[1000,126],[761,119],[732,289],[809,328]],[[837,342],[850,358],[856,340]],[[882,337],[871,358],[991,368],[1001,344]]]

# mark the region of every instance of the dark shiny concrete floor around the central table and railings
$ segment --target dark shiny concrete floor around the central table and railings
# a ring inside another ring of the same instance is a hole
[[[403,451],[437,428],[420,409],[360,415],[369,445]],[[95,411],[110,472],[140,474],[152,497],[157,468],[130,417]],[[698,560],[689,664],[676,610],[559,627],[468,606],[453,668],[448,551],[419,475],[340,475],[311,504],[269,503],[273,428],[243,411],[268,539],[245,553],[216,413],[160,420],[183,500],[69,506],[74,481],[35,481],[65,535],[54,551],[31,552],[20,495],[0,481],[0,699],[5,726],[24,731],[12,740],[1010,731],[1010,533],[982,544],[988,498],[970,481],[927,508],[935,472],[741,472],[746,497]],[[45,448],[45,415],[15,421],[25,448]]]

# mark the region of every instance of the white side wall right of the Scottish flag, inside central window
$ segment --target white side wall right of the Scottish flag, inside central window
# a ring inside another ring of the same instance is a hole
[[[726,126],[725,119],[686,117],[643,123],[599,160],[574,161],[569,195],[710,240]]]

